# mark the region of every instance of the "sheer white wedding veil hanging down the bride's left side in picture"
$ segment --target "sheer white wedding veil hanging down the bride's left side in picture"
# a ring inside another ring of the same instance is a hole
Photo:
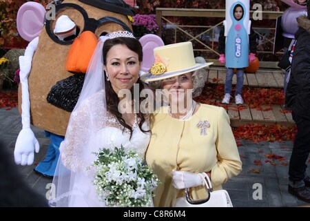
[[[59,148],[61,154],[47,193],[51,206],[104,206],[104,202],[94,200],[96,193],[87,188],[94,173],[87,166],[94,162],[94,152],[98,151],[94,135],[105,127],[106,117],[103,44],[109,37],[99,39]]]

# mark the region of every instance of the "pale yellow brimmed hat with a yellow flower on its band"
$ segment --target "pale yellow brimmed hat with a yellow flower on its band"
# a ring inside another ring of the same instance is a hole
[[[190,41],[154,48],[154,57],[155,62],[152,67],[141,76],[142,81],[167,79],[213,64],[212,62],[196,63]]]

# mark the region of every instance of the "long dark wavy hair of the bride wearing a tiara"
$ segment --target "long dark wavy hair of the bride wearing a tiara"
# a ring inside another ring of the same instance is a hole
[[[141,46],[140,41],[138,41],[137,39],[132,38],[132,37],[116,37],[114,39],[107,39],[105,41],[105,44],[103,45],[103,57],[104,57],[103,64],[105,66],[107,65],[107,52],[109,52],[113,46],[116,46],[118,44],[124,45],[127,48],[129,48],[130,50],[136,52],[138,54],[138,61],[142,61],[143,50],[142,50],[142,46]],[[104,77],[104,79],[105,79],[105,77]],[[140,80],[140,78],[138,79],[136,84],[138,84],[138,86],[139,86],[139,94],[140,94],[144,88],[143,83]],[[134,94],[134,87],[130,88],[130,92],[132,93],[132,95]],[[118,119],[118,122],[122,126],[124,126],[124,129],[127,128],[128,130],[130,130],[130,137],[131,137],[132,136],[132,126],[126,124],[121,113],[118,111],[118,102],[119,102],[118,95],[114,92],[112,85],[111,85],[111,82],[107,81],[107,79],[105,79],[105,94],[106,94],[105,99],[107,101],[107,111],[112,113],[112,115],[114,115],[116,117],[116,119]],[[139,106],[140,106],[142,101],[143,101],[143,99],[140,98]],[[145,122],[145,115],[143,113],[141,113],[141,111],[136,113],[136,115],[138,116],[138,119],[140,119],[140,121],[138,122],[138,127],[140,128],[140,130],[143,131],[144,133],[149,132],[149,131],[144,131],[142,129],[142,125]]]

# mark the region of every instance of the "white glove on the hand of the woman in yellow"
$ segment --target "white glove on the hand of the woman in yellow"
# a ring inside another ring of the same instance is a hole
[[[173,185],[176,189],[185,189],[204,184],[200,173],[192,173],[187,171],[172,171]]]

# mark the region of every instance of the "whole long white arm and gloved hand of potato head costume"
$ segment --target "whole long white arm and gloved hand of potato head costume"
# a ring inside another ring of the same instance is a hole
[[[23,129],[19,132],[14,149],[14,159],[17,164],[31,165],[34,160],[34,150],[40,150],[39,142],[30,129],[30,99],[28,76],[32,65],[32,56],[37,49],[39,38],[33,39],[25,50],[25,56],[19,57],[19,77],[21,79],[21,123]]]

